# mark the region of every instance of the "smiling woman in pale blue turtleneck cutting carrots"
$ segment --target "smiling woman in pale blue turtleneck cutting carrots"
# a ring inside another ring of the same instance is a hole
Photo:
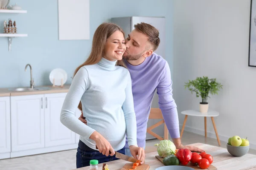
[[[101,24],[93,36],[90,56],[76,68],[60,120],[80,135],[77,168],[90,165],[91,159],[99,163],[115,160],[115,151],[125,154],[125,135],[131,152],[144,161],[144,150],[137,147],[131,76],[122,62],[124,43],[119,26]],[[75,116],[78,105],[87,125]]]

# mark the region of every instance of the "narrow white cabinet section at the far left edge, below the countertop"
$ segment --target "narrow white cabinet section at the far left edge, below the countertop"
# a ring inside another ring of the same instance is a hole
[[[0,97],[0,159],[10,158],[11,120],[10,97]]]

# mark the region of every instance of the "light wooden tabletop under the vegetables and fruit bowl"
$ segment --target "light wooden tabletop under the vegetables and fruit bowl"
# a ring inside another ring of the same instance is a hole
[[[195,143],[191,144],[195,147],[200,147],[213,157],[212,165],[218,170],[256,170],[256,155],[247,153],[241,157],[231,156],[226,148],[216,147],[209,144]],[[157,152],[146,153],[145,164],[150,165],[149,170],[155,170],[157,167],[164,166],[158,161],[155,156]],[[120,170],[126,163],[124,160],[116,160],[107,162],[109,170]],[[75,170],[89,170],[88,167],[82,167]],[[102,164],[99,164],[99,170],[102,170]]]

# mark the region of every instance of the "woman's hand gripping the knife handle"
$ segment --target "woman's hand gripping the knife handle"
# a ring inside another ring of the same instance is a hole
[[[94,131],[90,139],[93,139],[96,142],[96,147],[99,149],[99,152],[105,156],[113,156],[115,154],[115,150],[111,146],[111,144],[105,139],[101,134]]]

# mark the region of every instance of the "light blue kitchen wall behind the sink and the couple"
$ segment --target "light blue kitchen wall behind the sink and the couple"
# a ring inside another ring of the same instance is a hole
[[[11,5],[15,3],[11,0]],[[172,1],[170,0],[90,0],[90,40],[58,40],[57,0],[19,1],[27,14],[0,13],[0,31],[3,21],[16,21],[19,33],[28,37],[14,38],[12,51],[8,51],[8,39],[0,37],[0,88],[29,86],[30,74],[25,65],[32,65],[35,86],[51,85],[49,73],[54,68],[67,71],[67,83],[75,68],[90,53],[93,33],[102,22],[111,17],[145,16],[166,17],[166,60],[172,71]],[[79,4],[78,4],[79,5]],[[74,28],[79,23],[74,23]],[[2,33],[2,32],[1,32]]]

